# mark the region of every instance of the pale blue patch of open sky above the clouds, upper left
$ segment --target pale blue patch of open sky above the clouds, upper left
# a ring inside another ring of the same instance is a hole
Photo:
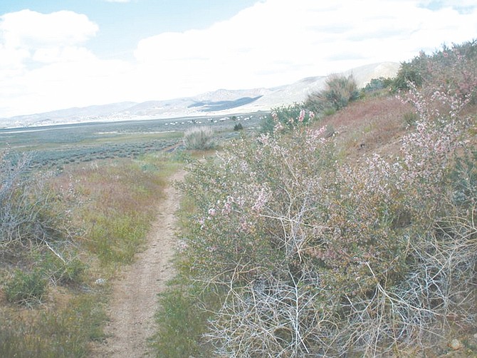
[[[1,0],[0,14],[30,9],[69,10],[100,26],[88,47],[102,58],[131,59],[137,42],[168,31],[206,29],[256,0]]]

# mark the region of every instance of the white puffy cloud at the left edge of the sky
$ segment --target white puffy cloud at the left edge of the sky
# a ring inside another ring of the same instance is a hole
[[[86,105],[94,94],[103,96],[95,83],[103,73],[113,76],[108,69],[114,66],[84,45],[97,31],[87,16],[72,11],[0,16],[0,116]]]

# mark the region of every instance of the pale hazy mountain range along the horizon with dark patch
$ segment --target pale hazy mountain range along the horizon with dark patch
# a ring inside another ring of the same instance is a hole
[[[352,68],[334,75],[352,75],[359,88],[372,78],[394,77],[399,63],[382,62]],[[332,76],[332,75],[329,75]],[[329,76],[303,78],[275,88],[252,88],[202,93],[198,96],[143,103],[120,102],[83,108],[68,108],[27,116],[0,118],[0,128],[53,126],[70,123],[130,121],[156,118],[229,116],[231,114],[269,111],[305,101],[310,93],[323,90]]]

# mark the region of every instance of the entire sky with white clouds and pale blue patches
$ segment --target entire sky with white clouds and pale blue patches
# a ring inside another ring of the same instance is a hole
[[[271,88],[473,39],[475,0],[0,0],[0,118]]]

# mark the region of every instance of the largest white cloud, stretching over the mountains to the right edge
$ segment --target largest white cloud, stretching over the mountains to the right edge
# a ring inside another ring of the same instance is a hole
[[[276,86],[470,40],[475,14],[402,0],[268,0],[206,30],[144,39],[135,55],[177,88]]]

